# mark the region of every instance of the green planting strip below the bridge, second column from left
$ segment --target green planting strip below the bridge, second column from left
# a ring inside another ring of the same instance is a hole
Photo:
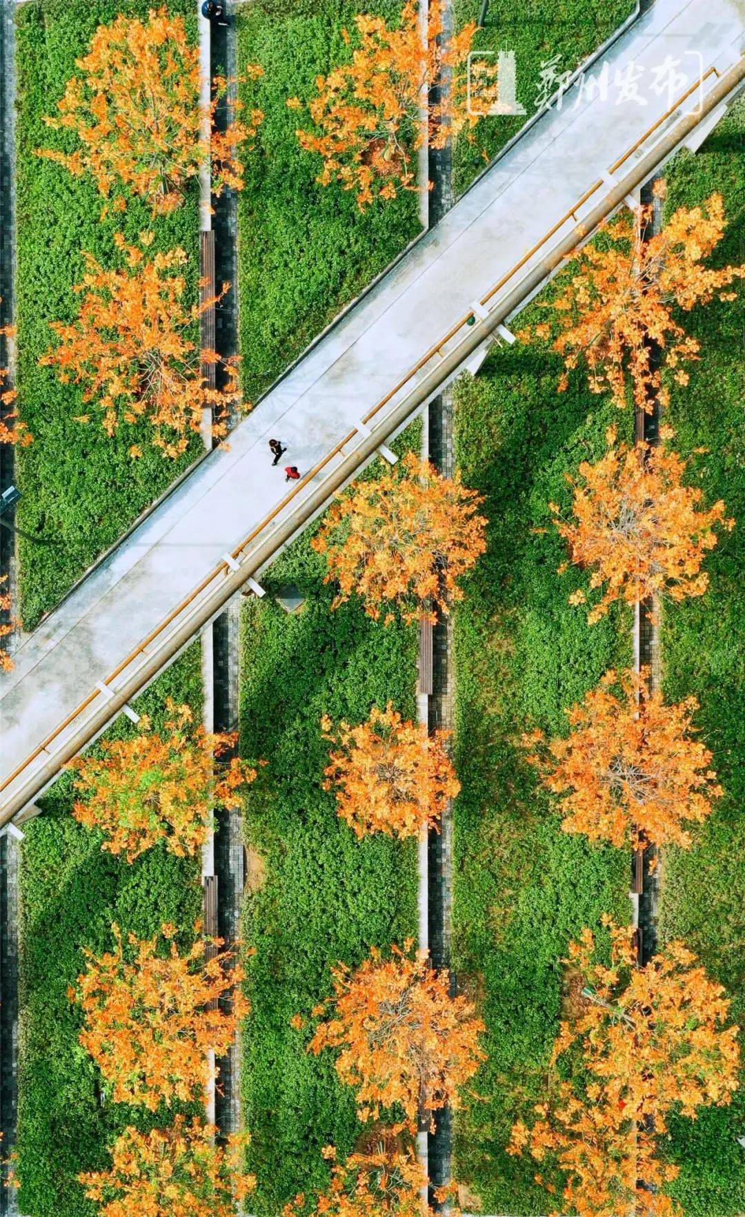
[[[328,742],[320,727],[324,712],[357,723],[388,701],[416,718],[417,632],[376,624],[357,604],[332,613],[323,568],[307,539],[297,542],[263,576],[269,594],[243,621],[241,750],[269,765],[245,820],[253,874],[265,881],[252,881],[259,890],[244,904],[243,937],[256,954],[242,1090],[259,1180],[252,1212],[271,1217],[297,1191],[326,1183],[324,1144],[343,1156],[360,1133],[333,1054],[309,1056],[310,1027],[294,1030],[292,1015],[307,1017],[328,996],[335,960],[355,964],[373,944],[417,935],[416,843],[357,841],[339,819],[333,793],[321,789]],[[306,598],[292,617],[272,596],[289,582]]]

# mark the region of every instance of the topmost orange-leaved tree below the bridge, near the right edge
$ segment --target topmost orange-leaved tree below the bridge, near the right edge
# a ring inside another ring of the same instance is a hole
[[[681,325],[681,310],[734,299],[722,288],[743,279],[745,267],[705,264],[724,234],[721,195],[700,207],[681,207],[654,236],[645,231],[649,213],[642,208],[639,219],[625,211],[605,226],[609,240],[575,253],[563,290],[546,305],[552,320],[521,331],[521,337],[553,337],[566,368],[559,389],[583,363],[592,392],[610,392],[616,405],[626,405],[628,385],[637,406],[650,410],[655,398],[665,405],[665,369],[687,385],[684,365],[700,349]],[[654,349],[660,359],[653,359]]]

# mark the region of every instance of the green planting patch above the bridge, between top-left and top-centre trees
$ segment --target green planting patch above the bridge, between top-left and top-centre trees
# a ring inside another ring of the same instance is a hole
[[[238,65],[264,75],[244,86],[247,106],[264,111],[256,151],[248,157],[238,202],[241,354],[248,397],[255,398],[339,309],[417,235],[417,196],[361,213],[354,192],[316,183],[320,158],[303,152],[295,130],[315,79],[348,55],[342,29],[355,11],[394,19],[396,0],[352,4],[256,4],[238,12]]]

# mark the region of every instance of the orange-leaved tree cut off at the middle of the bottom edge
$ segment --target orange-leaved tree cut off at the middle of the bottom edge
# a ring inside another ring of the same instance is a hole
[[[333,1162],[328,1190],[317,1198],[315,1213],[324,1217],[431,1217],[431,1208],[422,1205],[427,1187],[427,1171],[417,1160],[411,1144],[401,1143],[395,1128],[382,1129],[378,1144],[369,1150],[350,1154],[335,1161],[333,1145],[321,1150]],[[439,1189],[439,1199],[452,1188]],[[448,1211],[452,1211],[448,1207]],[[305,1196],[295,1196],[286,1205],[282,1217],[303,1217],[307,1212]]]

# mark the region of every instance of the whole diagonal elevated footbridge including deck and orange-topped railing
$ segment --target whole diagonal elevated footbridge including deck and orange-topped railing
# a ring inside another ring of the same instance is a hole
[[[657,0],[15,655],[0,825],[43,791],[745,77],[745,0]],[[272,467],[270,437],[303,475]]]

